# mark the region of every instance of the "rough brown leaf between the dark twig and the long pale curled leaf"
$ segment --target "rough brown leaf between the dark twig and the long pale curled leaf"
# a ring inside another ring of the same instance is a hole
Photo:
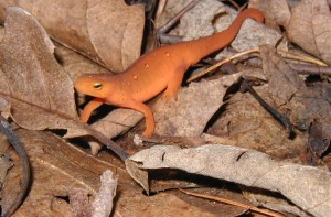
[[[265,100],[273,101],[267,87],[254,89]],[[217,117],[207,133],[217,137],[217,140],[205,139],[212,143],[222,139],[223,144],[260,151],[291,162],[298,162],[299,150],[307,142],[307,137],[301,132],[289,139],[285,128],[249,93],[232,96],[226,110]]]

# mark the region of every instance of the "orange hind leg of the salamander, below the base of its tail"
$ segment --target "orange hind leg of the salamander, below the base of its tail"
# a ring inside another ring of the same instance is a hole
[[[177,93],[182,84],[184,73],[185,73],[185,69],[178,69],[170,77],[170,80],[168,82],[168,86],[167,86],[167,89],[163,95],[164,101],[169,101],[171,99],[171,97],[174,97],[174,100],[177,100]]]

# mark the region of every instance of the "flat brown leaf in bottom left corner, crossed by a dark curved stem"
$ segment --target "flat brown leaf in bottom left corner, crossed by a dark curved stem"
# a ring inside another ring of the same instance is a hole
[[[105,164],[96,166],[100,162],[95,162],[92,156],[79,152],[52,133],[20,130],[18,134],[30,156],[33,181],[29,195],[17,215],[73,216],[70,205],[61,198],[65,198],[73,187],[85,188],[90,195],[95,195],[99,185],[97,178],[100,174],[99,169],[105,169]],[[15,155],[15,153],[11,154]],[[94,165],[95,172],[79,170],[79,165],[84,165],[79,158]],[[19,187],[20,176],[17,175],[21,167],[19,161],[15,165],[10,171],[2,192],[4,207],[11,204],[17,194],[15,189]]]

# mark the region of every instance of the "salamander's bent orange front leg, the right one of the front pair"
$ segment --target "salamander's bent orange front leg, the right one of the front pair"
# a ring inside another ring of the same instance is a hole
[[[151,109],[148,106],[146,106],[145,104],[142,104],[140,101],[136,101],[136,100],[126,101],[126,104],[122,106],[135,109],[145,115],[146,130],[143,131],[142,135],[151,137],[151,134],[153,133],[153,131],[156,129],[156,121],[154,121],[154,117],[153,117]]]

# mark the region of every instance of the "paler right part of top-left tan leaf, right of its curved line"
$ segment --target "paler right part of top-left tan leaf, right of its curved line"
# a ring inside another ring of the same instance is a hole
[[[88,0],[87,30],[98,57],[114,72],[126,69],[140,56],[143,4],[122,0]]]

